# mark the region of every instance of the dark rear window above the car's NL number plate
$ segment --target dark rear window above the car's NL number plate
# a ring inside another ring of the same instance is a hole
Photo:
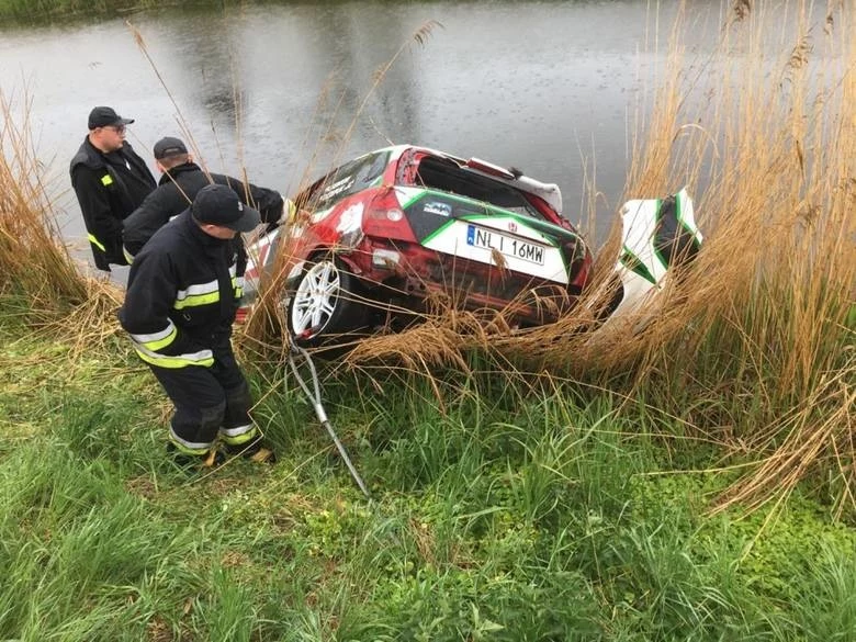
[[[431,156],[423,158],[416,172],[416,183],[545,221],[534,205],[513,187],[459,167],[450,160]]]

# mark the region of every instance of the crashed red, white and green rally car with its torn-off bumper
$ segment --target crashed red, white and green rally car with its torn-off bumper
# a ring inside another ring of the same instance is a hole
[[[275,266],[286,329],[303,345],[394,327],[438,302],[500,313],[511,325],[550,323],[593,275],[559,187],[476,158],[386,147],[328,172],[291,206],[289,225],[248,248],[241,314]],[[620,286],[604,320],[649,299],[701,243],[684,191],[631,201],[623,216]]]

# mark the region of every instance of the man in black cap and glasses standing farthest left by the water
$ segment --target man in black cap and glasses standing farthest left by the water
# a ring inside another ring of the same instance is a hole
[[[71,159],[69,171],[99,270],[126,266],[122,252],[122,221],[156,187],[146,162],[125,140],[123,119],[113,108],[89,113],[89,134]]]

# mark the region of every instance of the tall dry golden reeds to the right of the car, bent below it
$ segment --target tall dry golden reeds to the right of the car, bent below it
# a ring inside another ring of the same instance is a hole
[[[707,237],[657,309],[581,331],[618,256],[617,221],[588,301],[559,323],[510,331],[502,316],[485,325],[439,306],[419,327],[361,341],[343,362],[432,379],[481,354],[508,372],[572,375],[754,462],[723,506],[780,500],[809,478],[853,511],[856,16],[852,3],[784,11],[735,3],[703,59],[686,53],[691,30],[678,19],[653,105],[637,108],[626,199],[688,185]],[[278,286],[259,318],[281,317]]]

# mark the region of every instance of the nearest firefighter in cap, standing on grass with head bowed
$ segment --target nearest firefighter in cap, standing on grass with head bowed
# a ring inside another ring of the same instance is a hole
[[[119,319],[174,405],[168,449],[182,465],[219,463],[217,438],[227,453],[273,460],[230,342],[247,266],[239,233],[260,221],[228,187],[206,185],[131,266]]]

